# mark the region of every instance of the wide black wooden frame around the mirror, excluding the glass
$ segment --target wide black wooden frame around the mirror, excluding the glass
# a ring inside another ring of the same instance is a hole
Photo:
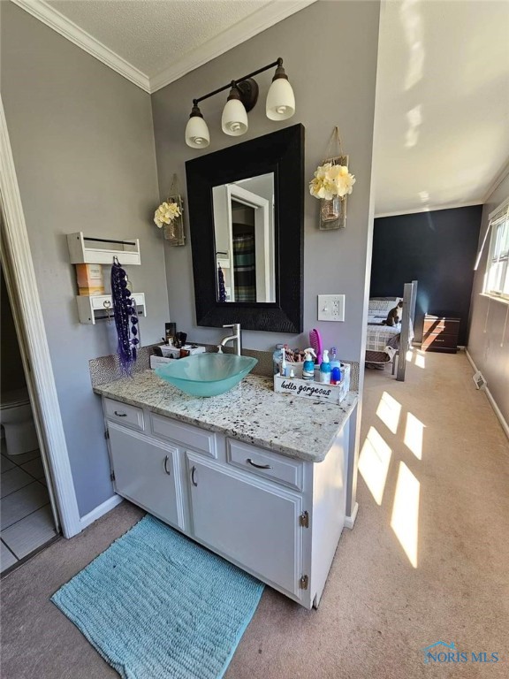
[[[276,301],[217,301],[212,188],[274,172]],[[302,332],[304,127],[294,125],[186,162],[198,325]]]

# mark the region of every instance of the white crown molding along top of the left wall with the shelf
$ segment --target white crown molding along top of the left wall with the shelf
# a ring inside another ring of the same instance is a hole
[[[43,24],[53,28],[58,34],[63,35],[75,45],[85,50],[92,57],[99,59],[103,64],[110,66],[113,71],[120,73],[127,80],[131,80],[134,85],[150,93],[150,81],[145,73],[142,73],[124,58],[119,57],[116,52],[103,45],[102,42],[77,26],[73,21],[67,19],[59,11],[55,10],[45,0],[12,0],[22,10],[32,14],[35,19],[39,19]]]

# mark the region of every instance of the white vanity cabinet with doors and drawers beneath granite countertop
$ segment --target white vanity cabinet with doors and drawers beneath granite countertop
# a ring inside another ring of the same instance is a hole
[[[346,515],[348,421],[323,462],[103,397],[118,494],[311,608]]]

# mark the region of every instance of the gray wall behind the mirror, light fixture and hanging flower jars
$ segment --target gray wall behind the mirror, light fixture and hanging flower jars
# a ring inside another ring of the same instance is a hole
[[[362,310],[366,267],[370,253],[369,191],[378,45],[378,2],[317,2],[221,57],[188,73],[152,96],[156,154],[161,196],[168,194],[171,175],[178,172],[186,187],[185,161],[302,123],[306,128],[306,179],[325,156],[330,134],[339,126],[351,171],[357,182],[348,196],[346,230],[317,229],[319,202],[308,195],[305,203],[304,328],[317,327],[325,346],[335,345],[342,358],[361,357]],[[201,104],[210,130],[206,151],[190,149],[184,141],[192,100],[233,78],[283,57],[296,97],[296,113],[285,123],[265,116],[265,97],[273,71],[257,76],[260,99],[249,113],[249,130],[241,138],[221,132],[226,101],[216,95]],[[188,225],[187,235],[188,235]],[[166,275],[171,320],[190,339],[217,343],[224,331],[196,326],[191,248],[166,246]],[[212,284],[212,283],[211,283]],[[316,320],[317,294],[346,294],[346,322]],[[277,342],[308,346],[303,336],[244,332],[243,345],[270,349]]]

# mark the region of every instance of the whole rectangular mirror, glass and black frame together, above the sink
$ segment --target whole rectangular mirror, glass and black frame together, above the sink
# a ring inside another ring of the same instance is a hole
[[[186,162],[198,325],[302,332],[304,127]]]

